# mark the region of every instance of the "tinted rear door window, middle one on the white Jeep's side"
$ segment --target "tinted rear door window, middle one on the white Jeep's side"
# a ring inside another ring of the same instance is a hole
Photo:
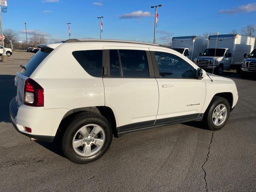
[[[149,77],[144,50],[110,50],[110,76]]]

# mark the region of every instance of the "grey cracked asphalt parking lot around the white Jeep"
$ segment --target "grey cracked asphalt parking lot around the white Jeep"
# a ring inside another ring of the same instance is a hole
[[[0,62],[0,191],[256,191],[255,79],[224,72],[239,100],[222,130],[188,123],[134,132],[114,138],[96,162],[78,165],[10,123],[13,79],[32,55],[14,52]]]

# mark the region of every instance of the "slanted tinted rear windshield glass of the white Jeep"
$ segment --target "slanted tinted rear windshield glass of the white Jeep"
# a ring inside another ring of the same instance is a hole
[[[48,54],[50,54],[50,52],[52,52],[53,49],[52,48],[41,48],[40,51],[38,51],[36,54],[34,54],[34,56],[32,56],[32,58],[30,58],[30,60],[28,60],[28,62],[25,64],[25,68],[23,68],[22,70],[20,70],[20,72],[29,77],[34,70],[37,68],[37,66],[48,56]]]

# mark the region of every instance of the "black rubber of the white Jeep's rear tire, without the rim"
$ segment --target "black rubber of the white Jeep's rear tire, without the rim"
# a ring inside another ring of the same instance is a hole
[[[76,132],[86,124],[97,124],[99,125],[105,133],[105,142],[96,154],[91,156],[81,156],[75,152],[72,146],[72,141]],[[63,134],[61,148],[64,156],[68,158],[70,161],[77,164],[86,164],[93,162],[100,157],[102,157],[105,152],[110,147],[112,142],[112,129],[110,124],[106,118],[101,116],[100,114],[94,112],[82,112],[72,119],[72,121],[68,124],[66,131]]]

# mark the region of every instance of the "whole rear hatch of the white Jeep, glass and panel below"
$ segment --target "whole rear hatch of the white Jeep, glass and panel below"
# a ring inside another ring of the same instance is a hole
[[[17,95],[16,95],[16,107],[19,108],[23,104],[23,92],[24,92],[24,83],[27,78],[34,72],[34,70],[40,65],[40,63],[54,50],[49,47],[42,47],[25,66],[17,72],[17,75],[14,80],[15,86],[17,86]]]

